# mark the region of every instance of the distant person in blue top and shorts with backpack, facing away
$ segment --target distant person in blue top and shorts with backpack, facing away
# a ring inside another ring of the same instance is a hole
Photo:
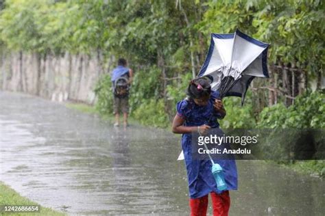
[[[113,86],[113,108],[115,115],[114,126],[119,126],[119,113],[123,113],[123,125],[128,126],[129,113],[129,90],[132,83],[133,71],[127,68],[128,62],[120,58],[117,62],[117,68],[112,70],[112,86]]]

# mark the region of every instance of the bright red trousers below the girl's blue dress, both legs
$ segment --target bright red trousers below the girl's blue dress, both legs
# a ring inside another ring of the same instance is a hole
[[[227,216],[230,208],[229,191],[221,194],[211,192],[213,216]],[[205,216],[208,209],[208,195],[202,198],[190,199],[191,216]]]

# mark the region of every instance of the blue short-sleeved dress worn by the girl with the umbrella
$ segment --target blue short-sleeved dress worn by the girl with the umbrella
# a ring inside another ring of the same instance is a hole
[[[211,128],[219,128],[217,118],[220,116],[213,107],[215,98],[219,92],[212,92],[208,105],[198,106],[191,99],[184,99],[177,103],[177,114],[184,118],[184,126],[201,126],[207,124]],[[212,113],[212,114],[211,114]],[[191,198],[201,198],[211,191],[221,193],[217,189],[215,178],[211,172],[212,163],[210,160],[192,159],[191,133],[182,135],[182,150],[189,182],[189,195]],[[237,190],[237,167],[234,160],[216,160],[224,170],[224,177],[227,185],[226,190]]]

